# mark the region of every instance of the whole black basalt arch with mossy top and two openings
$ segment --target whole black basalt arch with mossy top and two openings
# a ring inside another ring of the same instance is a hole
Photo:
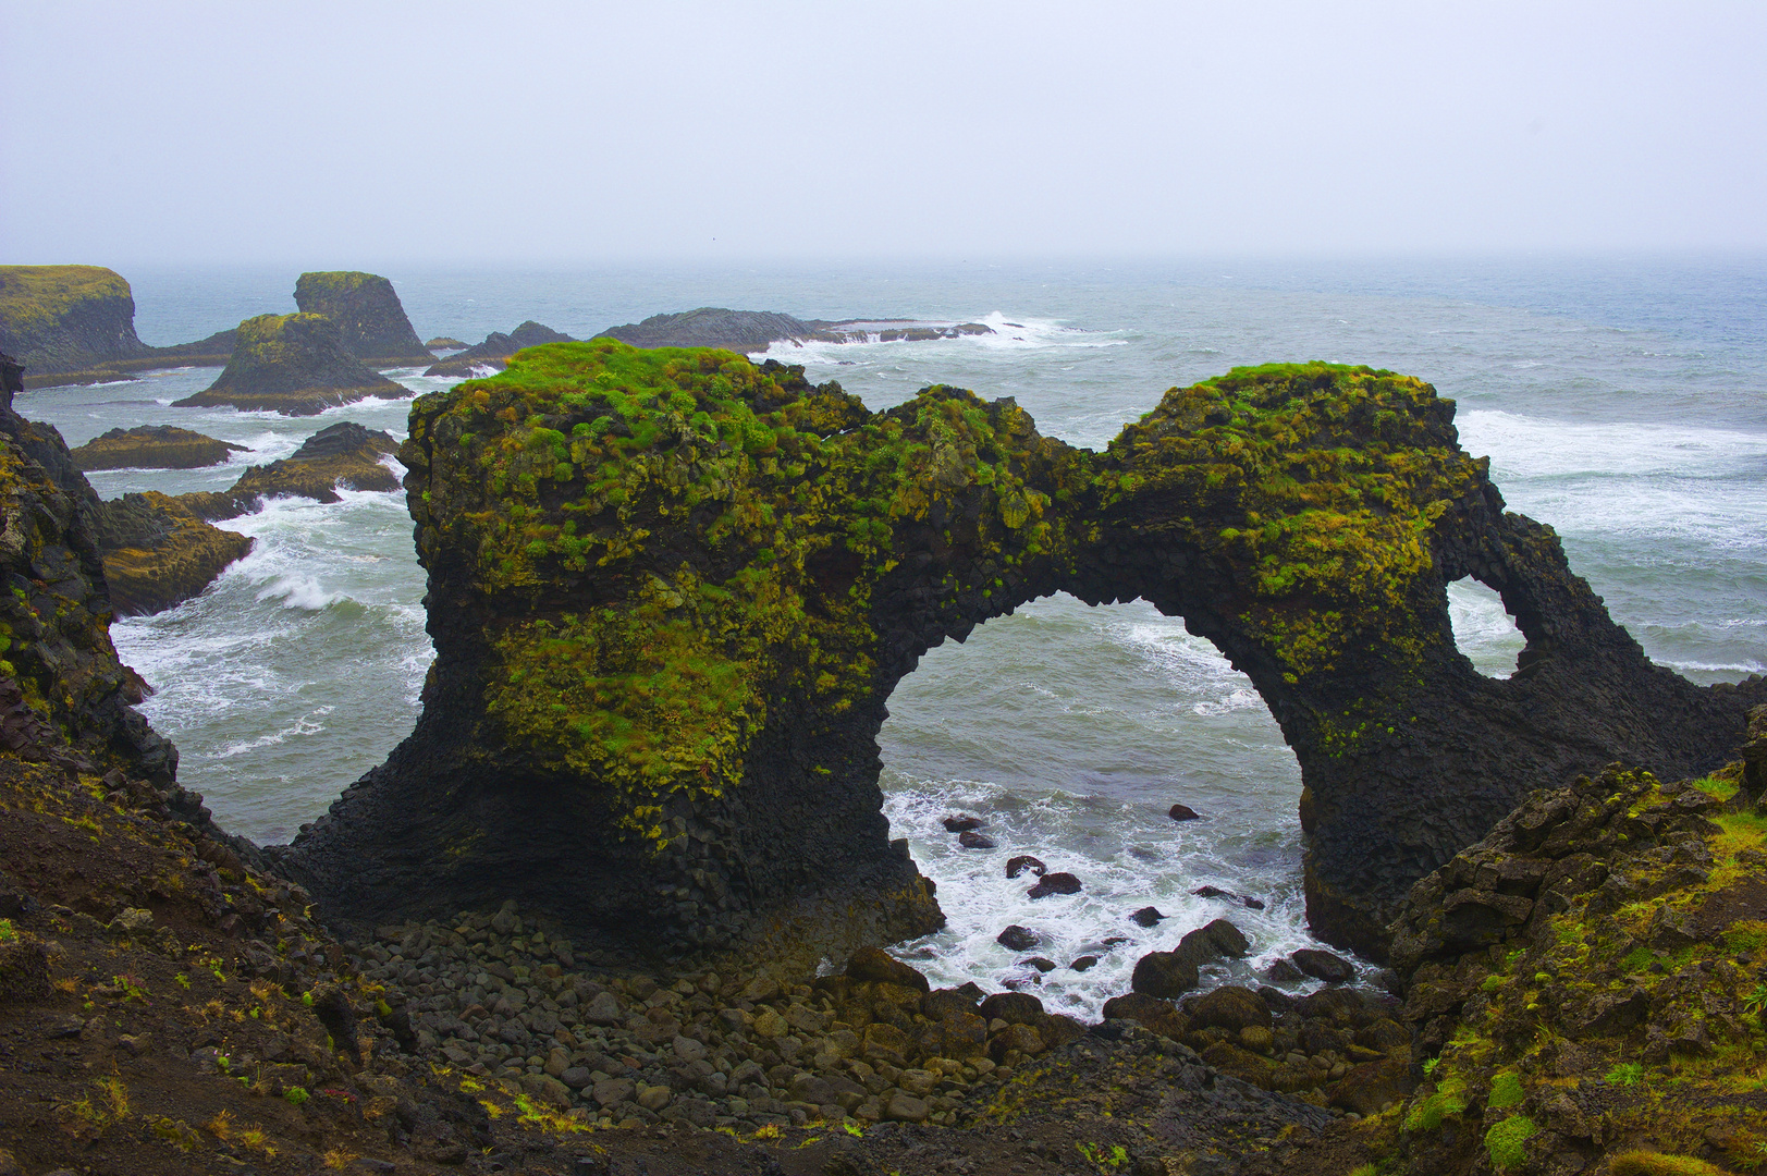
[[[1375,953],[1527,789],[1700,767],[1763,695],[1650,665],[1504,513],[1452,403],[1368,368],[1172,389],[1090,453],[1011,400],[873,414],[797,368],[595,340],[419,400],[401,456],[424,713],[279,854],[346,923],[514,897],[610,946],[797,960],[935,928],[880,813],[885,700],[1055,591],[1147,598],[1251,676],[1301,762],[1315,928]],[[1468,573],[1528,637],[1514,679],[1454,649]]]

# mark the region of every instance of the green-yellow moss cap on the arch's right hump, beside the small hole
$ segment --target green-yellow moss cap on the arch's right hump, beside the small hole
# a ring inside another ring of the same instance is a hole
[[[1422,380],[1341,364],[1235,368],[1172,389],[1111,442],[1104,500],[1196,502],[1184,536],[1251,585],[1242,621],[1290,681],[1366,642],[1421,654],[1428,532],[1481,485],[1452,401]],[[1221,527],[1223,516],[1232,525]],[[1352,720],[1345,741],[1361,734]]]

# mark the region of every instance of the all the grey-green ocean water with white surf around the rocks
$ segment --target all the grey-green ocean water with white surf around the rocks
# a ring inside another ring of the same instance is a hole
[[[127,274],[145,340],[200,338],[293,309],[293,272]],[[1369,363],[1458,401],[1463,446],[1491,458],[1513,509],[1551,523],[1573,566],[1652,658],[1700,683],[1767,672],[1767,258],[1601,258],[1173,265],[940,265],[823,271],[391,272],[422,338],[468,341],[525,318],[587,336],[664,309],[990,324],[922,343],[783,345],[815,380],[873,409],[931,382],[1016,396],[1043,431],[1103,446],[1173,386],[1244,363]],[[94,476],[125,490],[223,488],[350,419],[403,435],[408,400],[316,419],[171,409],[214,370],[42,389],[19,410],[71,444],[118,424],[177,423],[251,446],[230,467]],[[415,396],[445,380],[394,371]],[[180,778],[228,828],[276,842],[311,821],[410,730],[431,649],[422,573],[396,493],[277,500],[230,523],[258,550],[201,598],[113,635],[154,684],[145,711]],[[1456,638],[1488,674],[1520,635],[1495,594],[1449,589]],[[1096,1017],[1134,960],[1209,918],[1253,941],[1217,980],[1248,980],[1309,944],[1293,755],[1251,683],[1145,603],[1055,596],[933,649],[889,702],[885,812],[938,881],[949,927],[899,944],[935,983],[1030,985]],[[1203,813],[1177,824],[1173,801]],[[988,822],[965,851],[942,819]],[[1014,854],[1081,877],[1030,900]],[[1253,895],[1253,911],[1191,891]],[[1127,914],[1168,918],[1140,928]],[[995,943],[1020,923],[1032,951]],[[1099,957],[1088,971],[1069,964]],[[1025,960],[1057,967],[1037,973]]]

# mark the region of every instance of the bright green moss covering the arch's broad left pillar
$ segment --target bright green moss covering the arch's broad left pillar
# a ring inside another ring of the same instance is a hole
[[[993,552],[944,585],[990,598],[1071,546],[1028,479],[1088,476],[1011,401],[929,387],[873,416],[795,368],[615,340],[528,348],[419,400],[401,456],[426,486],[419,554],[465,552],[472,589],[532,601],[493,637],[489,714],[542,766],[615,789],[622,828],[659,847],[668,796],[740,780],[767,699],[839,714],[873,695],[898,525]],[[590,577],[594,603],[571,591]]]

